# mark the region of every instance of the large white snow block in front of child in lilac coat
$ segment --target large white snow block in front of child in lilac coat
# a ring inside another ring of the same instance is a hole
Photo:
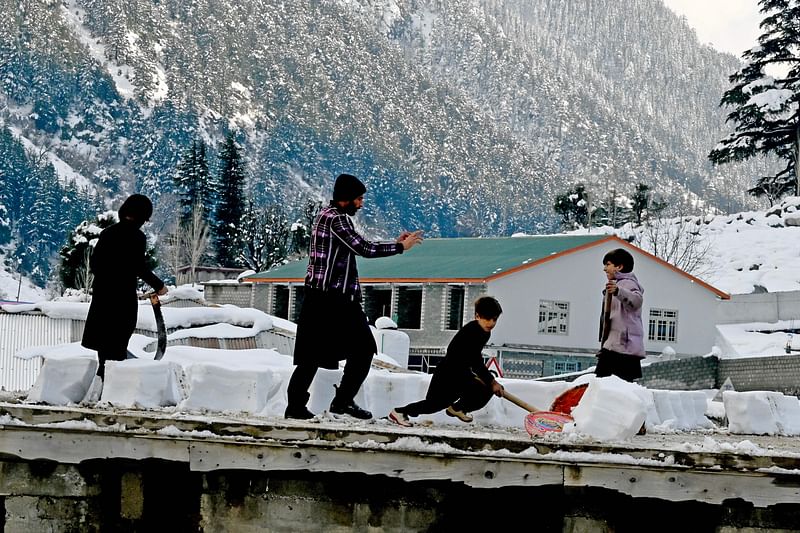
[[[565,432],[578,432],[597,440],[632,438],[647,417],[647,406],[635,388],[617,376],[594,378],[580,403],[572,410],[575,424]]]

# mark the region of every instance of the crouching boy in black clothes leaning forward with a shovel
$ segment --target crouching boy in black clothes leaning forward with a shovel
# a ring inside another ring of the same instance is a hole
[[[502,396],[503,386],[486,368],[481,353],[502,312],[500,302],[491,296],[478,298],[475,320],[465,324],[450,341],[444,360],[433,372],[425,399],[392,409],[389,419],[401,426],[410,426],[411,416],[445,409],[449,416],[472,422],[470,411],[489,403],[492,394]]]

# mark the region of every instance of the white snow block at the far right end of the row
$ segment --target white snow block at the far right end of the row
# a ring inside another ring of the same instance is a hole
[[[722,394],[728,430],[742,435],[800,435],[800,403],[779,392]]]

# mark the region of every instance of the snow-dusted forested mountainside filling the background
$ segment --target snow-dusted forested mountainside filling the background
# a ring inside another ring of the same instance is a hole
[[[376,227],[552,228],[576,182],[743,207],[706,156],[739,62],[660,0],[0,1],[0,123],[106,195],[234,128],[253,196],[365,176]]]

